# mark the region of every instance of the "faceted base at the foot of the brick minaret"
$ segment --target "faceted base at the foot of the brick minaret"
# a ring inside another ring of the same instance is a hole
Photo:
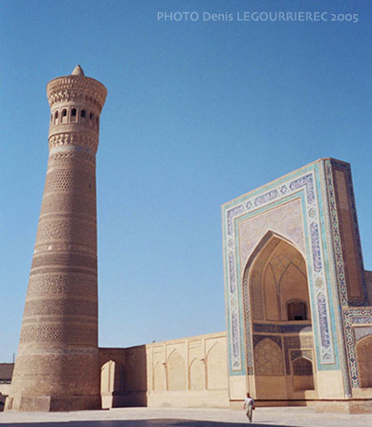
[[[52,396],[17,396],[8,397],[5,411],[20,412],[59,412],[101,409],[101,398],[97,396],[70,396],[53,398]]]

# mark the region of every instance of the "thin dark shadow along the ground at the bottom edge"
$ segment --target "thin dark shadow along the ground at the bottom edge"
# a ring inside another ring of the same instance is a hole
[[[2,423],[2,427],[258,427],[262,423],[226,423],[219,421],[196,421],[175,419],[154,420],[99,420],[99,421],[64,421],[52,423]],[[285,427],[281,424],[267,424],[266,427]],[[293,426],[292,426],[293,427]]]

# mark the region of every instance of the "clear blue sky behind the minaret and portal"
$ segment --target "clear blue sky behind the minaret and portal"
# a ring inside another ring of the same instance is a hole
[[[107,87],[99,345],[128,347],[226,330],[220,205],[320,157],[352,164],[372,270],[371,34],[356,0],[0,0],[0,362],[20,336],[52,78],[81,64]]]

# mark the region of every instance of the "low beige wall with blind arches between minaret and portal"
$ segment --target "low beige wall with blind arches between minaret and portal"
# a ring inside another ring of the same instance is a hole
[[[102,407],[228,407],[226,333],[99,354]]]

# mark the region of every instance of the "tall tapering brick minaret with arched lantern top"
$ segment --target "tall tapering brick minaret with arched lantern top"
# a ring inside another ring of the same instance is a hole
[[[95,157],[107,90],[78,65],[47,96],[50,154],[6,410],[100,407]]]

